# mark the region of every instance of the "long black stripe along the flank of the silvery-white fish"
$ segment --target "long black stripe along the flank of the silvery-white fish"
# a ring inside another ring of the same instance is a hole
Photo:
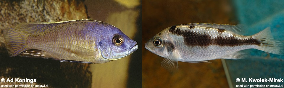
[[[171,27],[172,28],[172,27]],[[220,32],[224,32],[223,29],[219,29]],[[218,30],[218,31],[219,31]],[[238,46],[238,45],[260,45],[260,43],[253,38],[238,39],[235,37],[217,37],[211,39],[209,35],[201,35],[191,31],[182,31],[179,28],[170,29],[171,33],[175,35],[181,35],[184,38],[184,42],[189,46],[208,46],[208,45],[220,45],[220,46]]]

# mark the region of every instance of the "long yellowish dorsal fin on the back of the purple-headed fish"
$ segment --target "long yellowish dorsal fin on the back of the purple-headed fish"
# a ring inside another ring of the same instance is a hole
[[[43,22],[43,23],[21,23],[15,27],[16,30],[23,31],[29,35],[41,35],[48,30],[58,28],[60,26],[79,23],[79,22],[96,22],[94,20],[70,20],[61,22]],[[100,21],[97,21],[100,22]]]

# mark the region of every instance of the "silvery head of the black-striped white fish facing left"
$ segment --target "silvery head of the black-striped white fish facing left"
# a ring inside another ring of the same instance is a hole
[[[148,40],[148,42],[145,43],[145,48],[156,55],[167,57],[170,55],[169,52],[171,51],[169,48],[173,46],[172,43],[172,45],[168,44],[170,41],[171,38],[167,35],[167,31],[165,29]]]

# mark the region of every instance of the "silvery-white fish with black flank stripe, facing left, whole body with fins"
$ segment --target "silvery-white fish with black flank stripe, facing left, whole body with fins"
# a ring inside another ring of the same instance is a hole
[[[239,25],[209,23],[168,27],[150,39],[145,48],[165,57],[161,66],[171,72],[178,70],[178,61],[241,59],[249,56],[246,49],[251,48],[283,54],[283,43],[273,39],[270,28],[244,36]]]

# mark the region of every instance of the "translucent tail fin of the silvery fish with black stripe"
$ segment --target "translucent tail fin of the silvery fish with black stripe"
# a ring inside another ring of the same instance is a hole
[[[260,43],[256,49],[278,55],[284,54],[283,43],[273,38],[270,27],[267,27],[263,31],[256,33],[253,35],[253,37]]]

